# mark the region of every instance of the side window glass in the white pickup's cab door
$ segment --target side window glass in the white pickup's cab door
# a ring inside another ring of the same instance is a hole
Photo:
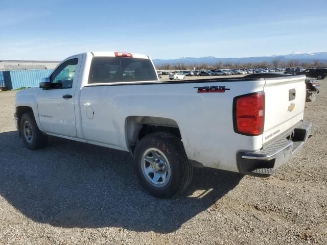
[[[77,58],[62,63],[51,75],[51,82],[58,83],[60,88],[72,88],[77,63]]]

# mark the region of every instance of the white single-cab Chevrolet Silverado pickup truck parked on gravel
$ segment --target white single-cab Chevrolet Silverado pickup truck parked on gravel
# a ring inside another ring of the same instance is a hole
[[[167,198],[193,166],[267,177],[307,140],[305,76],[252,74],[160,82],[146,55],[88,52],[16,94],[28,149],[48,135],[130,152],[142,186]]]

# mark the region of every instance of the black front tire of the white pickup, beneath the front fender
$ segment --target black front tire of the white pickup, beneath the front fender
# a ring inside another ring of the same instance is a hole
[[[32,137],[30,141],[26,137],[27,133],[25,132],[25,127],[30,125],[30,129],[32,132]],[[48,143],[48,136],[41,133],[39,128],[36,125],[36,121],[34,116],[30,113],[25,113],[20,118],[20,133],[21,138],[26,146],[26,148],[30,150],[40,149],[46,146]]]

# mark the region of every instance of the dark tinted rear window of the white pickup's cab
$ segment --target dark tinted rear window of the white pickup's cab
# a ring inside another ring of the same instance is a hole
[[[88,83],[156,81],[150,60],[126,57],[94,57]]]

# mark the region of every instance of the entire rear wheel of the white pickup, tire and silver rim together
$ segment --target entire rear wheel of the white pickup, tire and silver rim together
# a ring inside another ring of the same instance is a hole
[[[185,190],[193,167],[175,135],[153,133],[142,138],[134,151],[134,168],[141,185],[154,197],[169,198]]]

